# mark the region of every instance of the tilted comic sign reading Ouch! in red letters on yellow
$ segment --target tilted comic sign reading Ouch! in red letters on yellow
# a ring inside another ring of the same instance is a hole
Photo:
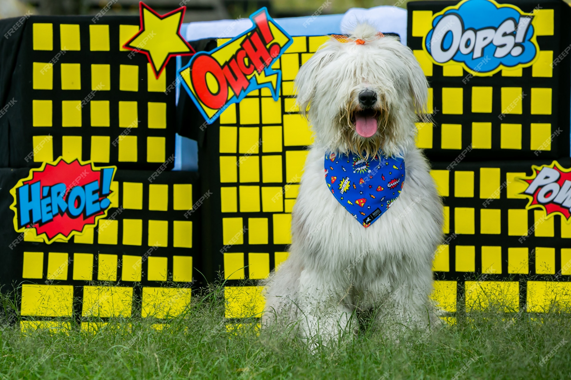
[[[293,39],[262,8],[251,29],[222,46],[198,52],[178,71],[183,86],[208,123],[251,91],[270,88],[278,100],[282,71],[271,68]]]

